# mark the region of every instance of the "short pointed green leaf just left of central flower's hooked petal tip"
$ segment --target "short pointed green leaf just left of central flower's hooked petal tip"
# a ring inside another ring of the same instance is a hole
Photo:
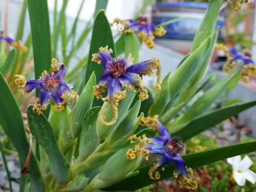
[[[101,107],[93,107],[85,114],[81,130],[78,161],[88,157],[100,143],[100,136],[96,128],[100,109]]]

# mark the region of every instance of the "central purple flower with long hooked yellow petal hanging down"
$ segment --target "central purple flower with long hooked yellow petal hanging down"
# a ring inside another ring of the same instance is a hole
[[[142,85],[142,79],[140,75],[151,76],[155,70],[158,76],[156,82],[156,89],[161,89],[161,74],[160,74],[160,62],[156,58],[146,60],[137,64],[132,64],[133,58],[129,54],[128,58],[122,56],[112,58],[112,49],[106,47],[100,47],[99,52],[92,55],[92,61],[102,63],[105,70],[101,76],[99,83],[93,87],[93,94],[97,99],[102,98],[102,92],[108,87],[108,95],[102,98],[103,101],[109,102],[112,111],[113,118],[110,122],[105,122],[104,115],[100,115],[99,120],[103,125],[113,125],[117,120],[117,106],[118,102],[125,98],[125,91],[122,88],[129,91],[136,91],[135,88],[140,89],[139,98],[144,101],[148,98],[148,91],[144,89]]]

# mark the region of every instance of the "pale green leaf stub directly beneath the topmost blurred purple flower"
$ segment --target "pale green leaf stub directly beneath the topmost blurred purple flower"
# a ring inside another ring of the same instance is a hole
[[[139,63],[139,51],[141,43],[137,38],[137,35],[134,33],[126,33],[124,45],[125,58],[127,58],[129,54],[132,54],[132,57],[134,58],[133,63]]]

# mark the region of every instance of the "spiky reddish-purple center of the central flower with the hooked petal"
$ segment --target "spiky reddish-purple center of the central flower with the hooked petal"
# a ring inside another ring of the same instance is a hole
[[[106,63],[106,68],[113,76],[120,77],[126,72],[125,58],[113,58]]]

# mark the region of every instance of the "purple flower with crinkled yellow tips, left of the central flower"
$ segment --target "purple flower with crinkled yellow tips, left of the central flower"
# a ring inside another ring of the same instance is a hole
[[[54,68],[51,68],[50,71],[55,71],[54,73],[48,74],[47,71],[43,71],[38,80],[26,81],[23,75],[15,75],[15,84],[18,85],[19,92],[29,93],[35,88],[41,89],[40,97],[36,99],[33,107],[35,113],[42,114],[42,111],[47,109],[50,99],[57,103],[55,111],[59,111],[63,109],[63,106],[69,105],[67,98],[78,100],[78,94],[71,90],[72,87],[63,80],[66,74],[65,64],[60,64],[56,59],[53,59],[52,67]]]

